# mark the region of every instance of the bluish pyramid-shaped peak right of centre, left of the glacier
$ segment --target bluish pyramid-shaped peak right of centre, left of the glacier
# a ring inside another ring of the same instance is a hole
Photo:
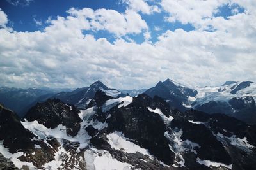
[[[188,87],[175,85],[172,80],[167,79],[164,82],[160,81],[155,87],[146,90],[144,93],[150,97],[156,95],[162,97],[164,100],[168,100],[171,108],[184,111],[186,108],[183,103],[188,104],[188,97],[195,97],[198,92]]]

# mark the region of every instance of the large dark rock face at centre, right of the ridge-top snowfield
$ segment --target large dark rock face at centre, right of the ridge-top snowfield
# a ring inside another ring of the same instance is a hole
[[[111,118],[107,121],[109,131],[122,131],[127,138],[136,140],[138,145],[148,148],[152,155],[170,165],[175,155],[164,137],[166,126],[161,117],[147,109],[153,103],[150,97],[141,94],[129,106],[115,107],[116,110],[111,110]]]

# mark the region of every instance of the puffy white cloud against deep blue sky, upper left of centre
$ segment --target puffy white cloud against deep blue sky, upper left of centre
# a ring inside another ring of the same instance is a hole
[[[58,20],[63,25],[68,25],[68,28],[76,27],[76,29],[93,29],[95,31],[106,30],[116,36],[139,34],[148,29],[145,20],[132,10],[125,10],[125,13],[119,13],[118,11],[104,8],[95,11],[91,8],[83,8],[82,10],[70,8],[67,12],[70,16],[67,18],[59,17]],[[57,24],[58,20],[52,21],[51,24]],[[74,26],[72,26],[73,24]]]

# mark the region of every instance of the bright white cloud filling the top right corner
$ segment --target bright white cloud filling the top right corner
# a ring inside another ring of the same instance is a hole
[[[214,20],[216,18],[215,15],[220,12],[219,8],[222,6],[228,6],[233,15],[239,13],[237,6],[245,8],[245,13],[252,15],[255,12],[256,5],[255,1],[252,0],[162,0],[160,4],[168,13],[166,17],[168,22],[189,23],[196,29],[202,29],[202,25],[205,25],[205,22],[209,24]]]

